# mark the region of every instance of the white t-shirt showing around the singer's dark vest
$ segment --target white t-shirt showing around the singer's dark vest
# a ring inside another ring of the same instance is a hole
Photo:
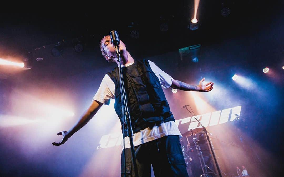
[[[162,71],[155,63],[148,60],[152,71],[160,80],[160,84],[163,88],[169,88],[172,85],[173,78],[167,74],[166,72]],[[128,67],[133,63],[129,63],[126,65],[121,65],[121,67]],[[101,82],[101,85],[93,97],[93,100],[99,101],[105,105],[109,105],[110,98],[114,99],[114,89],[115,85],[111,78],[106,74]],[[169,121],[166,123],[161,123],[159,125],[155,125],[153,129],[145,128],[140,130],[133,135],[133,145],[137,146],[164,136],[168,135],[179,135],[181,133],[178,129],[178,126],[174,121]],[[123,145],[123,143],[122,143]],[[125,138],[125,148],[130,148],[129,138]]]

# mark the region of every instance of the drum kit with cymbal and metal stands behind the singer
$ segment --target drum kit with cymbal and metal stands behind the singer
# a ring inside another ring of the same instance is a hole
[[[199,134],[198,138],[197,138],[197,134]],[[182,138],[180,139],[180,143],[181,143],[181,150],[184,156],[184,160],[187,165],[187,169],[191,171],[190,173],[192,174],[192,176],[194,177],[195,176],[202,176],[202,177],[215,176],[216,173],[214,173],[213,170],[210,167],[208,167],[208,165],[206,165],[201,148],[200,148],[200,145],[203,145],[206,142],[203,128],[191,129],[190,131],[183,133],[182,136],[187,138],[187,142],[188,142],[187,145],[185,145],[185,141],[183,141]],[[190,143],[188,137],[192,137],[193,143]],[[194,148],[196,150],[193,150]],[[197,153],[193,153],[193,152],[197,152]],[[198,155],[199,162],[200,162],[201,169],[202,169],[202,174],[197,174],[198,170],[196,170],[197,168],[195,167],[195,163],[193,161],[194,155]]]

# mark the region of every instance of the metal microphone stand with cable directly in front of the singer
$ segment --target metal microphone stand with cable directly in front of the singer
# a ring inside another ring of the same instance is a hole
[[[137,169],[137,163],[136,163],[136,156],[135,156],[135,150],[133,145],[133,131],[132,131],[132,125],[131,125],[131,119],[130,114],[128,112],[127,107],[127,99],[126,99],[126,91],[124,87],[124,80],[122,75],[122,69],[121,69],[121,57],[118,45],[115,45],[115,51],[116,51],[116,57],[118,61],[118,68],[119,68],[119,85],[120,85],[120,95],[121,95],[121,101],[122,101],[122,129],[123,129],[123,139],[124,139],[124,123],[126,120],[127,124],[127,136],[130,140],[130,146],[131,146],[131,154],[132,154],[132,161],[133,161],[133,167],[134,167],[134,174],[136,177],[138,177],[138,169]],[[124,142],[124,141],[123,141]],[[123,144],[124,148],[124,167],[125,167],[125,176],[126,176],[126,157],[125,157],[125,144]]]

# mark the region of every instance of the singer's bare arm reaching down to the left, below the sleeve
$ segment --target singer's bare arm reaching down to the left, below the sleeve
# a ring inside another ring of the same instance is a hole
[[[69,130],[69,131],[62,131],[57,133],[57,135],[62,135],[63,138],[59,143],[53,142],[52,144],[55,146],[60,146],[61,144],[64,144],[68,138],[70,138],[74,133],[76,133],[78,130],[80,130],[86,123],[95,116],[99,108],[103,103],[100,103],[98,101],[93,100],[89,108],[85,110],[85,112],[82,114],[78,122]]]

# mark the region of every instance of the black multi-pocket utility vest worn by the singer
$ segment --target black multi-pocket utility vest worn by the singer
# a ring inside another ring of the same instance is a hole
[[[151,128],[155,123],[175,121],[160,81],[146,59],[135,60],[132,65],[123,67],[122,73],[133,133]],[[122,124],[119,68],[116,67],[107,74],[115,84],[114,109]]]

